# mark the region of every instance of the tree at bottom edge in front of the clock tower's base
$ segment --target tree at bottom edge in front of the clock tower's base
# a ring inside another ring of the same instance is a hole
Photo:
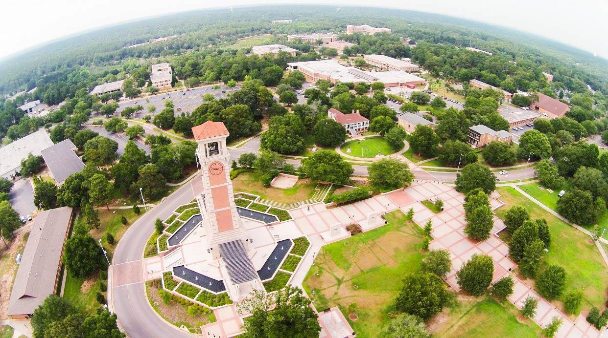
[[[301,289],[289,285],[283,292],[272,294],[256,290],[238,305],[239,313],[251,314],[241,335],[245,338],[319,336],[321,327],[310,304]]]

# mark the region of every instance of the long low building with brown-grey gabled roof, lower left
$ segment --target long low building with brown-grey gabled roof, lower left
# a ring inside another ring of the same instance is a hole
[[[7,314],[11,318],[32,317],[44,299],[57,292],[63,245],[71,223],[69,206],[41,211],[34,219],[10,294]]]

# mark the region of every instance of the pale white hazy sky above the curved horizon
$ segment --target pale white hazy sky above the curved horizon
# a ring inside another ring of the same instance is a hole
[[[536,33],[608,58],[608,0],[7,1],[0,4],[4,12],[0,31],[5,32],[0,45],[0,58],[62,36],[147,16],[219,6],[285,3],[337,6],[372,3],[378,7],[440,13]]]

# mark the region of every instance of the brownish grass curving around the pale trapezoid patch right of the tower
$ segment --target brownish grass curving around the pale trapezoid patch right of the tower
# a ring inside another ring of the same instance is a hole
[[[249,194],[259,195],[260,198],[275,201],[278,203],[294,203],[305,201],[313,197],[316,183],[306,183],[299,180],[295,186],[289,189],[265,188],[260,181],[260,175],[254,172],[243,172],[232,180],[234,191],[248,192]]]

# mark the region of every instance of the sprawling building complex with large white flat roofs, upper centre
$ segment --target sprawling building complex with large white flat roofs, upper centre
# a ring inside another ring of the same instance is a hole
[[[385,87],[396,86],[417,86],[426,83],[426,80],[411,73],[395,70],[392,72],[365,72],[355,67],[347,67],[338,63],[336,60],[302,61],[288,63],[287,70],[299,70],[307,81],[316,82],[325,79],[331,83],[352,82],[373,83],[383,82]]]

